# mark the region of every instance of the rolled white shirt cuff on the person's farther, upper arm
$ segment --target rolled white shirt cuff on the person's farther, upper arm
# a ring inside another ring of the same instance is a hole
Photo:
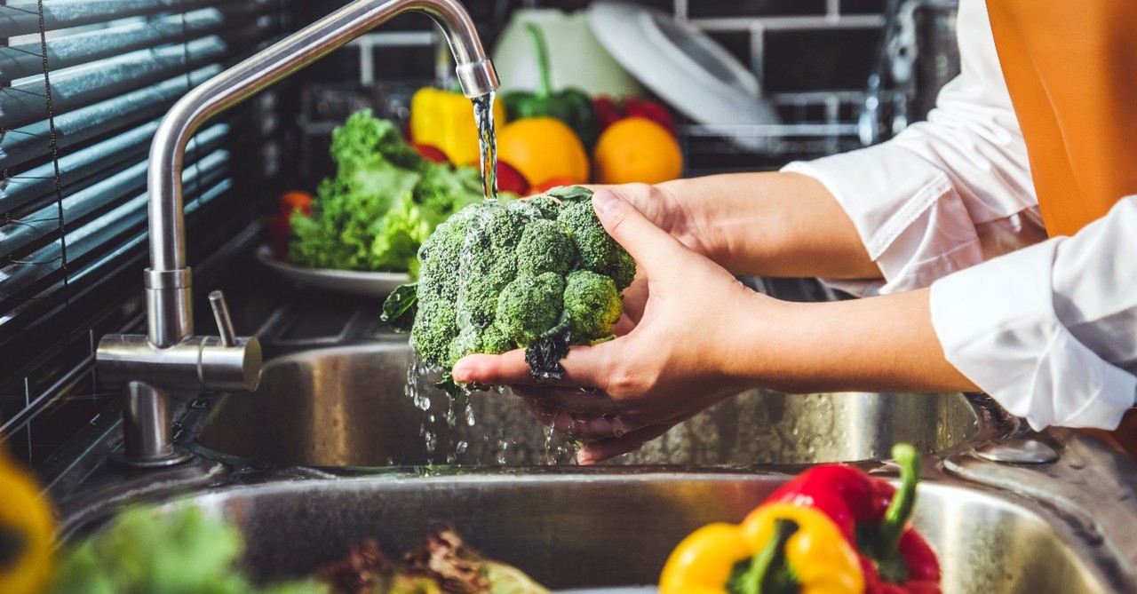
[[[899,293],[984,260],[976,225],[947,174],[912,151],[883,143],[782,170],[829,190],[883,276],[824,279],[833,286],[857,295]]]

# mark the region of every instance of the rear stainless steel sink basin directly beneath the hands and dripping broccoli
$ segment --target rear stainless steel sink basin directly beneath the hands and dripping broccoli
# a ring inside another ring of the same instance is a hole
[[[255,394],[213,403],[198,442],[301,466],[531,466],[574,447],[509,393],[451,402],[430,378],[408,394],[413,353],[385,341],[269,361]],[[412,374],[413,376],[414,374]],[[749,391],[675,427],[624,465],[800,465],[888,457],[896,442],[941,452],[974,440],[984,411],[963,394]]]

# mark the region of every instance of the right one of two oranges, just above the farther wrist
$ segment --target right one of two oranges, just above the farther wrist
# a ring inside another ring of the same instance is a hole
[[[598,184],[655,184],[682,173],[679,142],[647,118],[624,118],[604,128],[592,150],[592,181]]]

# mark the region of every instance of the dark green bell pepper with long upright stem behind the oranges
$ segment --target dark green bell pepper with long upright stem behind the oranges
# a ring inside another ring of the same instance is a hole
[[[545,35],[532,23],[529,23],[526,28],[533,36],[533,47],[537,52],[538,84],[537,90],[532,92],[509,91],[503,93],[501,102],[505,103],[509,120],[542,116],[557,118],[567,124],[580,137],[581,143],[591,150],[598,135],[596,111],[592,108],[591,98],[580,89],[566,87],[553,91]]]

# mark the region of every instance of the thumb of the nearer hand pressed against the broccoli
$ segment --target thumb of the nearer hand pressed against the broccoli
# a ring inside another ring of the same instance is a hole
[[[689,251],[679,240],[645,217],[631,202],[611,190],[597,190],[592,194],[592,208],[608,235],[628,250],[632,259],[645,268],[648,277],[652,276],[653,268],[673,268],[675,259],[681,257],[679,252]]]

